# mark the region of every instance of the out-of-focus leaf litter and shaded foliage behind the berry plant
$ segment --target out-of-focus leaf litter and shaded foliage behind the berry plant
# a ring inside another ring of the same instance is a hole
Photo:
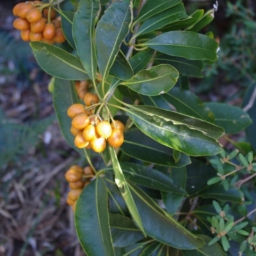
[[[12,28],[16,3],[0,3],[0,255],[83,255],[63,177],[67,166],[83,161],[60,134],[47,90],[50,77]],[[66,10],[72,4],[76,1],[66,1]],[[214,2],[184,4],[192,13],[209,10]],[[218,61],[205,67],[203,79],[190,80],[204,101],[248,102],[255,86],[255,8],[253,1],[220,1],[214,21],[204,29],[220,39]],[[255,120],[255,111],[248,113]],[[255,125],[246,130],[256,150],[253,131]],[[246,143],[243,132],[230,139]]]

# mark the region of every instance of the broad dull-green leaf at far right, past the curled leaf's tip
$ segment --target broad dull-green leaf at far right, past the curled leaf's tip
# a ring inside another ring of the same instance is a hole
[[[248,113],[241,108],[219,102],[208,102],[205,105],[214,113],[215,124],[223,127],[228,134],[243,131],[252,124]]]

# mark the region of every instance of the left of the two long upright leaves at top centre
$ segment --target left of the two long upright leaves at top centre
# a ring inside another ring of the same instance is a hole
[[[99,12],[99,0],[81,0],[74,17],[73,36],[77,54],[81,58],[84,70],[95,80],[97,60],[95,52],[95,19]]]

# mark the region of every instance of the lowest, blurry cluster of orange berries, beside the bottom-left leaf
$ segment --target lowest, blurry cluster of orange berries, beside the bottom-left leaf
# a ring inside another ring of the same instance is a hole
[[[65,178],[69,182],[69,188],[71,189],[68,192],[67,204],[72,206],[73,211],[76,209],[76,202],[83,188],[90,183],[90,179],[94,175],[92,167],[86,166],[83,169],[78,165],[71,166],[65,173]]]

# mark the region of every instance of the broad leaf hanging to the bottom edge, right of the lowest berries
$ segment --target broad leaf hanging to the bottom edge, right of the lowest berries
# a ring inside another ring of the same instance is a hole
[[[101,178],[93,180],[79,196],[75,226],[87,255],[115,255],[109,227],[108,192]]]

